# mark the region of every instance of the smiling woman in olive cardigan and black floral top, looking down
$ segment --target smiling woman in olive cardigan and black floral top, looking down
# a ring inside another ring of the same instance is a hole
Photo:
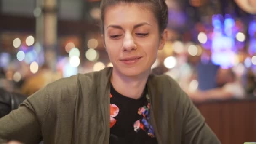
[[[219,144],[177,83],[149,75],[166,40],[163,0],[102,0],[113,68],[58,80],[0,119],[1,140],[26,144]]]

